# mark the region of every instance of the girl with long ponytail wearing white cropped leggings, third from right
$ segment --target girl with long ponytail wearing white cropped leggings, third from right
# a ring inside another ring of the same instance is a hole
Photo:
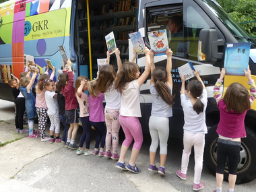
[[[167,49],[166,69],[154,65],[154,53],[150,52],[151,80],[150,93],[152,95],[152,112],[149,121],[150,136],[150,166],[148,170],[158,171],[165,175],[164,165],[167,156],[167,141],[169,137],[169,119],[172,117],[172,51]],[[160,140],[160,168],[156,167],[155,158]]]

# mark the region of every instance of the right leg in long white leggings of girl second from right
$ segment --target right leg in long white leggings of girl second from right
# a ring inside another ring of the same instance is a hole
[[[203,150],[205,145],[205,134],[195,134],[194,151],[195,151],[195,168],[194,168],[194,183],[199,184],[201,172],[203,169]]]

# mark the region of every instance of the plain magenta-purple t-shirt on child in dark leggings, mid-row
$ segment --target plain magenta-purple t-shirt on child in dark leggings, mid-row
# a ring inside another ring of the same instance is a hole
[[[103,100],[104,96],[102,93],[98,94],[98,97],[92,97],[89,95],[90,102],[90,116],[89,120],[92,122],[104,122],[104,108],[103,108]]]

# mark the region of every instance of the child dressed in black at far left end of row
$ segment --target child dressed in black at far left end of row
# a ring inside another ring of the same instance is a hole
[[[20,94],[20,80],[17,77],[14,79],[9,79],[9,86],[12,88],[12,94],[14,96],[14,106],[15,106],[15,126],[16,133],[28,133],[28,129],[23,128],[23,117],[25,112],[25,98]],[[19,99],[17,100],[17,98]],[[22,99],[20,99],[22,98]]]

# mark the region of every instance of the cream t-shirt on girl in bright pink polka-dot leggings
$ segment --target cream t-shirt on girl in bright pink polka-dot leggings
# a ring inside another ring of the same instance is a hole
[[[139,83],[135,79],[122,90],[120,115],[127,117],[141,117],[139,102]]]

